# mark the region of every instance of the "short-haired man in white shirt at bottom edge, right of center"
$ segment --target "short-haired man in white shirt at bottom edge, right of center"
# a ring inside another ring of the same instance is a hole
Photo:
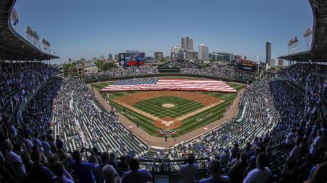
[[[257,168],[253,169],[246,175],[244,183],[266,182],[270,176],[270,169],[267,166],[269,160],[266,153],[257,155]]]

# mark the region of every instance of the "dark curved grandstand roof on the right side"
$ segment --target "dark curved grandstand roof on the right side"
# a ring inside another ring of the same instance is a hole
[[[313,43],[306,52],[281,56],[288,61],[327,61],[327,1],[309,0],[313,9]]]

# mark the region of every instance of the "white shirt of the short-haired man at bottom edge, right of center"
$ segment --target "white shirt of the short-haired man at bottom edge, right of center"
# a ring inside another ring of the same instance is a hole
[[[243,183],[257,183],[257,182],[266,182],[270,176],[270,169],[265,167],[263,171],[259,169],[253,169],[246,175]]]

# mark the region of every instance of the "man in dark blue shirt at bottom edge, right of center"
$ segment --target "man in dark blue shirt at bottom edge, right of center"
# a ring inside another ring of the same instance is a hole
[[[210,166],[209,166],[209,171],[210,171],[210,177],[207,179],[203,179],[200,181],[200,183],[229,183],[229,177],[228,176],[222,176],[220,175],[221,171],[221,162],[220,160],[211,160],[210,161]]]

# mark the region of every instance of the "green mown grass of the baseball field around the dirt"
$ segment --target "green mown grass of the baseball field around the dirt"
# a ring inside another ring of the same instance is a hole
[[[110,85],[110,83],[112,82],[97,83],[94,84],[93,87],[97,89],[97,91],[100,91],[103,87]],[[239,85],[237,83],[228,83],[228,85],[235,88],[237,92],[239,92],[240,89],[245,87],[245,85]],[[121,96],[126,96],[129,94],[137,94],[137,93],[142,93],[142,92],[112,92],[109,94],[108,99],[110,100],[110,105],[115,107],[118,111],[122,112],[123,107],[113,102],[112,100]],[[217,93],[217,92],[197,92],[197,93],[214,96],[216,98],[220,98],[225,101],[220,105],[212,107],[206,111],[202,111],[201,113],[196,114],[195,116],[191,116],[190,118],[183,120],[181,127],[177,128],[178,132],[174,135],[175,137],[184,135],[195,129],[199,129],[204,125],[208,125],[210,122],[222,118],[224,116],[224,112],[226,111],[226,108],[230,105],[230,103],[232,103],[232,100],[234,100],[234,98],[237,96],[237,94],[226,94],[226,93]],[[106,98],[106,94],[101,94],[101,96],[103,96],[103,98]],[[186,103],[185,100],[187,99],[177,98],[177,97],[172,98],[172,97],[173,96],[164,96],[164,97],[151,98],[149,100],[139,101],[138,103],[133,105],[133,107],[145,111],[148,114],[152,114],[153,116],[157,116],[159,118],[165,116],[178,118],[179,116],[184,116],[185,114],[189,114],[190,112],[196,111],[197,109],[201,109],[203,107],[201,106],[200,103],[196,105],[195,103],[197,102],[192,100],[188,100],[188,103]],[[175,103],[176,100],[178,101],[178,103]],[[175,105],[177,104],[176,107],[179,108],[161,107],[161,105],[164,103],[173,103]],[[128,118],[132,122],[135,123],[139,122],[139,127],[141,127],[144,131],[149,133],[151,136],[160,136],[157,133],[157,127],[155,127],[155,125],[153,124],[153,120],[151,120],[150,118],[146,118],[145,116],[142,116],[141,114],[138,114],[135,111],[131,111],[130,109],[126,109],[126,114],[123,115],[126,116],[126,118]]]

